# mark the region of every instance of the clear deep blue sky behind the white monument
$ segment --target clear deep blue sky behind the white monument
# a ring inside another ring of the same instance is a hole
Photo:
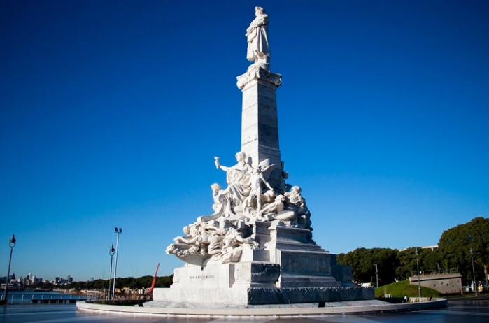
[[[0,274],[180,266],[239,150],[246,27],[270,16],[281,151],[331,252],[489,214],[488,1],[0,1]]]

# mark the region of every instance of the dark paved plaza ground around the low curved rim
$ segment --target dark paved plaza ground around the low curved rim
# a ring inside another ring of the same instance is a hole
[[[447,308],[422,310],[413,313],[377,315],[334,315],[302,319],[183,319],[165,317],[132,317],[77,311],[73,305],[13,305],[0,307],[0,323],[62,323],[62,322],[489,322],[489,299],[448,301]]]

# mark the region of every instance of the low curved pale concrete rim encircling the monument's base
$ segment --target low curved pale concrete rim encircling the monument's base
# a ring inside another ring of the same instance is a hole
[[[435,299],[421,303],[383,304],[370,306],[332,306],[325,308],[145,308],[136,306],[111,306],[78,302],[78,310],[126,315],[148,315],[164,317],[304,317],[321,315],[343,315],[359,313],[387,313],[441,308],[446,299]]]

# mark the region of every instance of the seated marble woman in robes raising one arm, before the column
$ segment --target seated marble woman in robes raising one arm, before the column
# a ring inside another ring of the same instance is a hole
[[[236,152],[236,161],[236,165],[227,167],[220,164],[219,157],[215,157],[215,167],[226,172],[227,188],[225,192],[229,192],[234,203],[239,205],[246,199],[246,196],[250,195],[250,173],[253,168],[246,163],[244,152]]]

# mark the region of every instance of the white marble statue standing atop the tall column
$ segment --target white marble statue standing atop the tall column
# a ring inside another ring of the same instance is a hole
[[[255,7],[256,18],[251,22],[250,27],[246,29],[246,40],[248,41],[248,50],[246,59],[251,62],[269,63],[269,46],[267,35],[268,15],[262,7]]]

